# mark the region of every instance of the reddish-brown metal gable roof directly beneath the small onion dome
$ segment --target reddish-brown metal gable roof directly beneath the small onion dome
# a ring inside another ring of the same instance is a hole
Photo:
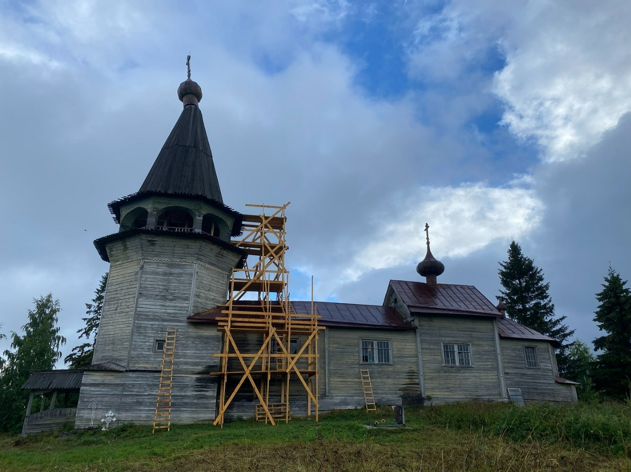
[[[411,312],[500,317],[500,311],[473,285],[391,280],[392,289]]]

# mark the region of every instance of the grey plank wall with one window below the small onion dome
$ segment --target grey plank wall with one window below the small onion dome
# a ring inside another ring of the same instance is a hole
[[[425,395],[432,403],[501,398],[492,319],[418,316]],[[442,343],[469,344],[472,367],[443,365]]]

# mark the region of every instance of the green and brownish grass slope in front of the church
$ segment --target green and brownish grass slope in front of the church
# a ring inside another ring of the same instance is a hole
[[[405,429],[366,427],[381,418],[392,411],[4,436],[0,471],[631,471],[623,404],[462,403],[408,408]]]

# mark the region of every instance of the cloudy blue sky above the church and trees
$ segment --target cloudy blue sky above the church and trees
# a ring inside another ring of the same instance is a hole
[[[608,264],[631,277],[630,22],[613,0],[0,1],[1,329],[52,292],[76,345],[106,204],[143,182],[190,51],[225,202],[292,201],[294,299],[313,275],[380,304],[420,280],[427,221],[439,282],[494,300],[516,239],[589,342]]]

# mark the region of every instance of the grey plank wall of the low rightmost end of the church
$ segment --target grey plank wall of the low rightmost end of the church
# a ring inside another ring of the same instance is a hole
[[[524,346],[536,347],[540,367],[526,367]],[[547,341],[500,339],[506,387],[521,389],[525,401],[575,401],[572,386],[555,382],[556,358],[549,346]]]

